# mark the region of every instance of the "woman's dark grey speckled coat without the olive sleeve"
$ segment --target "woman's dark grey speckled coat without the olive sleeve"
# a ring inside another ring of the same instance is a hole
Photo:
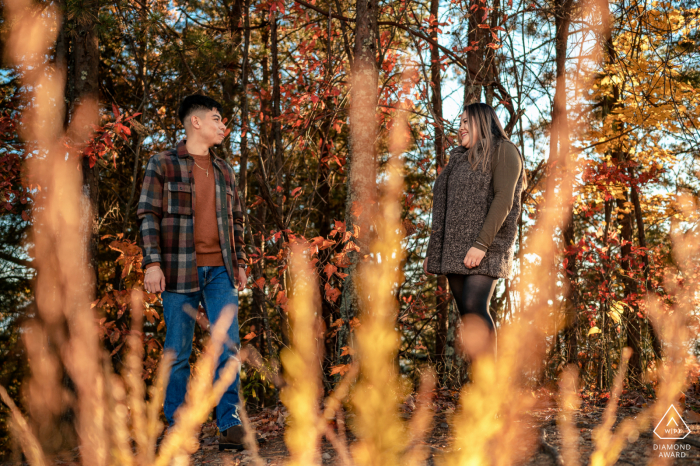
[[[500,144],[512,144],[502,141]],[[495,144],[493,151],[500,148]],[[517,149],[517,148],[516,148]],[[494,152],[495,153],[495,152]],[[520,151],[518,151],[520,153]],[[467,149],[458,146],[433,186],[432,232],[428,243],[428,271],[439,275],[489,275],[509,278],[513,269],[513,246],[520,217],[520,193],[523,189],[523,168],[515,186],[513,206],[496,233],[478,267],[468,269],[464,256],[472,247],[488,214],[494,191],[490,157],[486,171],[472,170]],[[522,160],[522,155],[521,155]]]

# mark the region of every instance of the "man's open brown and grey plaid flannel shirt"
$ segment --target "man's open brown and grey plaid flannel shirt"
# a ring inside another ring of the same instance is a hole
[[[224,266],[234,280],[233,256],[245,264],[243,208],[233,169],[213,151],[216,220]],[[194,250],[194,158],[185,141],[176,149],[154,155],[148,161],[136,214],[143,251],[143,267],[160,262],[165,289],[176,293],[199,290]],[[233,238],[233,241],[231,241]]]

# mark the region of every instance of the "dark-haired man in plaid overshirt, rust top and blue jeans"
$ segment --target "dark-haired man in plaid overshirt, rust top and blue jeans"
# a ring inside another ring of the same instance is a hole
[[[243,210],[233,169],[212,150],[226,134],[221,110],[218,102],[202,95],[182,101],[178,117],[186,139],[148,161],[137,210],[144,286],[148,292],[162,292],[164,349],[175,356],[163,406],[170,425],[190,377],[195,320],[185,308],[198,309],[202,303],[214,323],[224,307],[233,306],[236,317],[228,336],[240,344],[238,291],[246,284]],[[217,378],[234,351],[224,347]],[[236,377],[216,407],[220,449],[243,449],[238,386]]]

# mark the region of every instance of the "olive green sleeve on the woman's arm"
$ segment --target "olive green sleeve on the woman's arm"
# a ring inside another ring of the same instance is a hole
[[[486,251],[491,246],[496,233],[513,207],[513,195],[521,169],[522,160],[518,149],[510,142],[502,143],[492,164],[493,202],[491,202],[484,226],[481,228],[473,247]]]

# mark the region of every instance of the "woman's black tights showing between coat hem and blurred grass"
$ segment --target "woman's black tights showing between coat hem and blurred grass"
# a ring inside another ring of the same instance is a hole
[[[447,280],[450,282],[450,290],[460,315],[478,315],[488,325],[489,331],[494,333],[496,326],[489,314],[489,302],[498,279],[488,275],[449,274]]]

